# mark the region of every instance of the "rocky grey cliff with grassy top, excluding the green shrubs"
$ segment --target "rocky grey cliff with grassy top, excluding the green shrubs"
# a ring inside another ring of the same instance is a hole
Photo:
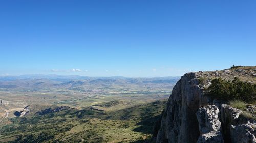
[[[254,120],[240,116],[243,111],[225,102],[205,96],[203,90],[211,84],[211,79],[218,77],[232,80],[238,76],[255,83],[255,71],[256,67],[238,67],[182,76],[173,88],[161,119],[155,123],[156,142],[256,142]]]

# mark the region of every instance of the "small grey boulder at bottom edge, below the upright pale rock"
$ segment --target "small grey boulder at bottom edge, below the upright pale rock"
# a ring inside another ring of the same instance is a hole
[[[197,143],[223,143],[220,132],[206,133],[199,136]]]

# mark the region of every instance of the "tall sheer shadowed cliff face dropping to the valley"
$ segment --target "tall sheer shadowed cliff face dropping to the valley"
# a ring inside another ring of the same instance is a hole
[[[202,94],[198,84],[196,73],[187,73],[177,82],[163,113],[157,142],[197,142],[196,112]]]

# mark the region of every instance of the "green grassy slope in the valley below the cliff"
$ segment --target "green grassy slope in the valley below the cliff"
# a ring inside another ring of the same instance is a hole
[[[43,116],[12,118],[12,124],[0,128],[0,141],[136,142],[152,135],[153,122],[166,102],[156,101],[121,110],[70,109]]]

